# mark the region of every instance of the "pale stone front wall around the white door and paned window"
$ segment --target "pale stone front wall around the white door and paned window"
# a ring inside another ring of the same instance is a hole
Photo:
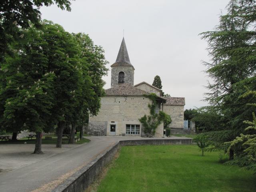
[[[145,114],[149,115],[148,104],[151,100],[143,96],[105,96],[101,98],[101,108],[97,116],[89,118],[88,134],[110,135],[110,125],[116,125],[116,136],[126,135],[126,124],[140,125],[142,136],[142,124],[138,120]],[[127,136],[127,135],[126,135]],[[132,135],[134,136],[134,135]],[[163,136],[163,125],[156,129],[156,137]]]

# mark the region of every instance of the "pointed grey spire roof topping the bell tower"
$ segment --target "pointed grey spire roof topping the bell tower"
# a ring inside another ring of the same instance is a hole
[[[132,67],[134,69],[134,67],[130,63],[130,58],[128,55],[124,38],[122,40],[122,43],[116,58],[116,62],[112,64],[111,67]]]

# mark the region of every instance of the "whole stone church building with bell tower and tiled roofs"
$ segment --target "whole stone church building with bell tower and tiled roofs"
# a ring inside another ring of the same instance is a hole
[[[139,118],[150,115],[145,97],[155,93],[156,112],[162,110],[172,118],[170,128],[183,128],[185,98],[162,97],[161,90],[141,82],[134,85],[134,66],[130,63],[124,38],[116,62],[111,65],[111,88],[101,98],[101,108],[97,116],[89,117],[88,134],[100,136],[143,136],[143,126]],[[160,124],[155,137],[162,137],[164,126]]]

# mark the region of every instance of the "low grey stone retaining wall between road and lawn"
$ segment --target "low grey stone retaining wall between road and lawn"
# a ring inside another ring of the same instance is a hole
[[[96,159],[74,173],[70,178],[56,187],[52,192],[84,192],[88,186],[96,180],[102,168],[114,157],[120,146],[134,145],[168,145],[168,144],[192,144],[192,139],[147,139],[147,140],[123,140],[119,141],[106,152],[99,154]]]

